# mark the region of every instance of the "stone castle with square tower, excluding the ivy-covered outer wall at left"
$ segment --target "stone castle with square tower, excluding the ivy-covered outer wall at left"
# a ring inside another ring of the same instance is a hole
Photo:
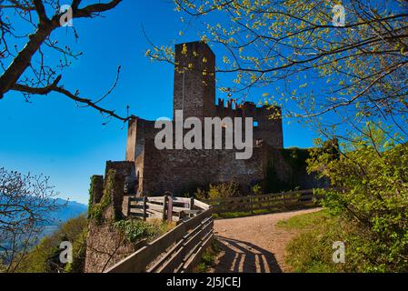
[[[106,166],[106,172],[114,168],[124,176],[125,195],[170,192],[182,196],[194,193],[197,187],[231,181],[244,192],[254,185],[263,186],[264,191],[315,186],[317,181],[297,161],[303,158],[304,151],[283,148],[282,118],[270,118],[271,108],[251,102],[236,105],[228,101],[225,105],[222,99],[215,104],[215,55],[208,45],[175,45],[174,64],[174,112],[182,110],[184,118],[253,117],[253,156],[237,160],[234,149],[159,150],[154,146],[154,136],[159,131],[154,128],[154,121],[134,118],[128,127],[126,161],[108,162]]]

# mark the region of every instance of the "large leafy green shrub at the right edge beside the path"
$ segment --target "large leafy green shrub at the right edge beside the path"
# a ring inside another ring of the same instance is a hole
[[[315,149],[309,171],[343,189],[318,193],[347,225],[348,270],[408,272],[408,144],[394,144],[367,124],[342,147],[338,157],[327,145]]]

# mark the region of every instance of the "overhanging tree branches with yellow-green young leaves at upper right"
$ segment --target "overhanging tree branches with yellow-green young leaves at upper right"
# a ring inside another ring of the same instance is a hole
[[[355,130],[382,121],[406,137],[407,1],[175,5],[182,21],[204,25],[202,41],[224,51],[216,72],[234,75],[234,85],[220,87],[228,97],[245,99],[263,87],[267,104],[284,105],[286,116],[304,117],[324,134],[333,134],[336,125]],[[174,63],[171,47],[154,46],[146,55]]]

